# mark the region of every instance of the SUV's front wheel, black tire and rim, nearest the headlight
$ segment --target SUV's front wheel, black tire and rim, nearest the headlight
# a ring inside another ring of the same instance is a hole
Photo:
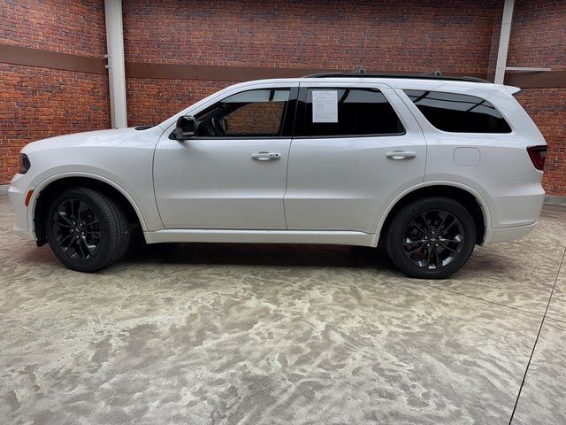
[[[120,259],[130,232],[125,213],[94,189],[71,187],[53,199],[45,215],[51,251],[66,267],[94,272]]]

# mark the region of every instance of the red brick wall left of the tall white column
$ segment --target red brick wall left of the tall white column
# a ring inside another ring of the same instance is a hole
[[[0,0],[0,43],[102,58],[103,0]],[[108,77],[2,63],[0,184],[18,169],[19,150],[51,135],[110,127]]]

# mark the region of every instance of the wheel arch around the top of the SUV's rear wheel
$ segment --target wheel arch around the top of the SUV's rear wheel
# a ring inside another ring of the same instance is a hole
[[[486,200],[476,190],[454,182],[427,182],[403,192],[394,199],[383,214],[379,222],[378,234],[385,234],[391,220],[403,206],[420,197],[430,196],[449,197],[461,203],[468,209],[476,225],[476,243],[480,245],[485,242],[487,232],[491,228],[491,215]]]

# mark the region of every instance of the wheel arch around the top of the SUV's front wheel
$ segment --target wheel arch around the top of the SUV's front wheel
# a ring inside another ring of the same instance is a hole
[[[34,224],[34,235],[39,246],[47,242],[43,217],[47,211],[52,194],[70,186],[83,186],[96,189],[104,195],[111,197],[124,209],[130,223],[139,225],[144,231],[147,229],[142,212],[135,204],[134,199],[115,182],[111,182],[95,174],[56,175],[46,179],[34,189],[34,196],[30,203],[31,208],[28,210],[27,220],[32,220],[31,222]]]

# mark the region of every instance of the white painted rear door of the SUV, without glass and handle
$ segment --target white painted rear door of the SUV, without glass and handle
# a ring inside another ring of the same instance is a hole
[[[330,88],[313,81],[301,87]],[[417,121],[394,91],[384,84],[348,82],[341,87],[378,88],[393,105],[405,135],[307,137],[291,143],[285,214],[287,228],[354,230],[376,233],[379,218],[394,197],[424,179],[426,145]],[[415,158],[387,158],[411,151]]]

